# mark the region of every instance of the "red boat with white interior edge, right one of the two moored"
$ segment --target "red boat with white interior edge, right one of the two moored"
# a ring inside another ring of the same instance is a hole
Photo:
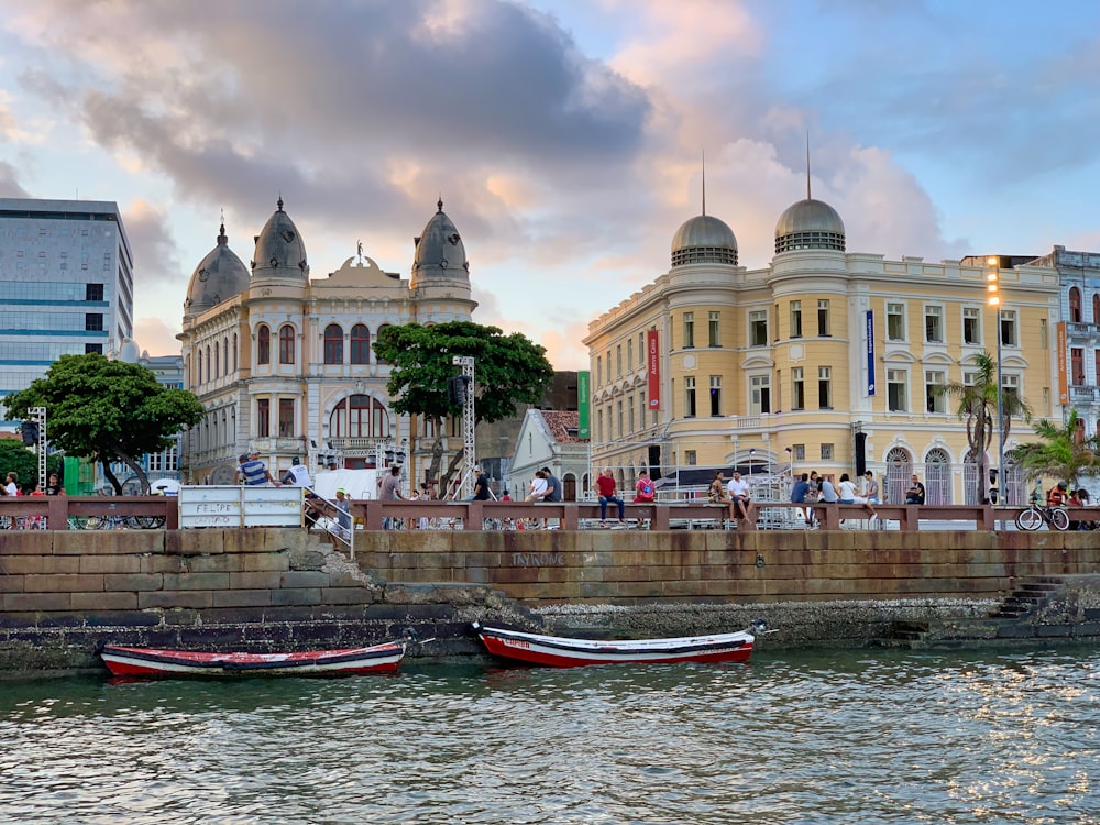
[[[752,654],[752,644],[767,625],[757,619],[739,632],[625,641],[540,636],[481,622],[474,622],[473,627],[494,656],[528,664],[573,668],[625,662],[744,662]]]

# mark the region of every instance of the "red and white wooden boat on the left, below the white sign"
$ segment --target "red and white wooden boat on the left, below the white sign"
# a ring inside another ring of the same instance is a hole
[[[108,645],[99,654],[117,676],[345,676],[392,673],[405,649],[404,641],[300,653],[201,653]]]

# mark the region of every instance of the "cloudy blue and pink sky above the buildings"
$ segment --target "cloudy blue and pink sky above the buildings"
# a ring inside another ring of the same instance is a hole
[[[587,369],[704,168],[769,263],[807,140],[849,252],[1100,250],[1098,41],[1094,0],[0,0],[0,197],[118,201],[152,355],[222,215],[407,278],[442,198],[474,321]]]

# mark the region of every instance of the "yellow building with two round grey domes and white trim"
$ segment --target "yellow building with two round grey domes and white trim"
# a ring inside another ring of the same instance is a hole
[[[738,265],[734,232],[705,213],[676,231],[671,264],[585,339],[592,463],[618,468],[620,483],[641,468],[855,477],[866,465],[889,502],[904,501],[912,473],[928,503],[974,501],[966,424],[933,387],[971,381],[983,350],[997,356],[991,267],[1003,391],[1035,417],[1055,411],[1059,284],[1049,265],[846,252],[840,217],[811,197],[780,217],[766,268]],[[1004,451],[1032,437],[1015,421]],[[998,441],[994,433],[987,466],[998,465]],[[1009,481],[1010,501],[1021,501],[1011,466]]]

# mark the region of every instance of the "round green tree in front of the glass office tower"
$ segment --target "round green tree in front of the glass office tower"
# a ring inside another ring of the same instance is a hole
[[[45,407],[51,442],[67,455],[100,462],[117,495],[122,495],[122,484],[111,472],[112,462],[129,466],[147,493],[148,477],[138,459],[167,449],[180,428],[205,415],[198,398],[161,386],[152,370],[97,353],[62,355],[46,377],[3,403],[12,418]]]

